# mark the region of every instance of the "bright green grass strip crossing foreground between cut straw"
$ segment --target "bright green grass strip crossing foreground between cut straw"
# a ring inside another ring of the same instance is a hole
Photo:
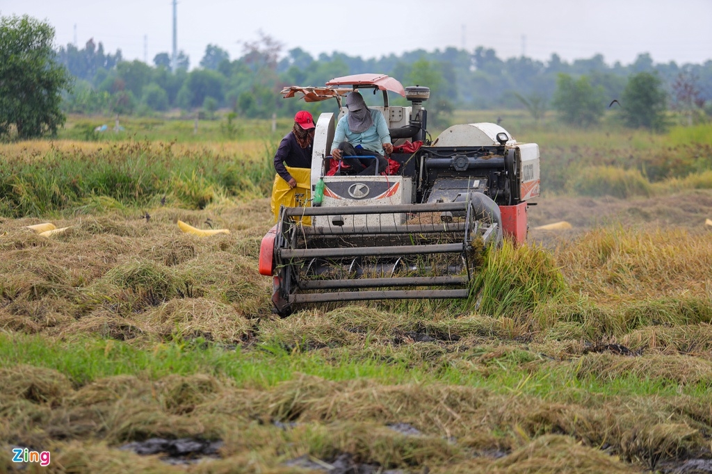
[[[397,356],[398,351],[392,349],[391,355]],[[210,374],[231,379],[238,387],[268,389],[307,374],[330,381],[374,379],[382,384],[461,385],[498,394],[575,401],[591,394],[701,396],[706,394],[709,383],[704,380],[680,384],[664,376],[634,374],[610,378],[578,376],[575,362],[547,367],[544,357],[521,349],[498,353],[496,347],[481,347],[461,354],[461,362],[481,357],[486,358],[488,368],[484,373],[480,369],[468,370],[467,364],[451,364],[447,357],[421,363],[407,357],[394,358],[391,363],[383,364],[381,357],[369,357],[367,349],[361,353],[337,349],[328,354],[289,351],[276,344],[228,349],[197,339],[140,349],[112,339],[57,342],[38,336],[0,334],[0,367],[25,365],[55,369],[68,376],[75,386],[117,375],[161,379],[172,374]],[[525,367],[530,363],[542,369],[531,372]]]

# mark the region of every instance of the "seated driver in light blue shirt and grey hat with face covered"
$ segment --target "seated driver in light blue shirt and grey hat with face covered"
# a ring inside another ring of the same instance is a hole
[[[358,92],[346,96],[346,108],[348,113],[336,125],[331,155],[335,159],[375,156],[376,159],[347,158],[344,163],[362,176],[375,174],[376,167],[379,173],[384,172],[388,165],[384,152],[393,151],[386,119],[378,110],[370,110]]]

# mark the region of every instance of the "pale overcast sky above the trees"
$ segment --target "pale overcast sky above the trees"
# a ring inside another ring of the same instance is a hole
[[[209,43],[239,58],[258,31],[281,41],[284,51],[299,47],[315,57],[484,46],[503,59],[712,59],[712,0],[179,0],[177,11],[178,49],[191,68]],[[105,51],[121,49],[125,59],[149,63],[172,48],[172,0],[0,0],[0,15],[11,14],[51,23],[57,46],[76,40],[83,48],[94,38]]]

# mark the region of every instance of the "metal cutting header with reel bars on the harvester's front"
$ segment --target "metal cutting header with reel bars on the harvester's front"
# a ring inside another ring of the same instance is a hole
[[[295,304],[315,302],[467,297],[481,263],[477,252],[501,245],[502,231],[491,199],[480,193],[466,197],[377,208],[284,208],[275,248],[276,312],[287,316]],[[350,224],[313,227],[300,221],[334,214]],[[372,221],[355,225],[360,214]],[[393,216],[407,218],[394,225]]]

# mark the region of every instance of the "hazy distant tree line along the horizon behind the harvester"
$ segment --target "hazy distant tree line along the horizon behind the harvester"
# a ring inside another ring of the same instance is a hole
[[[437,102],[436,107],[443,110],[520,108],[525,107],[523,98],[549,102],[562,74],[572,78],[586,76],[593,88],[613,99],[621,96],[629,76],[654,73],[661,79],[671,107],[689,107],[683,102],[692,100],[693,105],[703,108],[712,102],[712,60],[702,65],[677,65],[674,61],[663,64],[654,63],[648,53],[640,54],[629,65],[607,65],[601,55],[571,63],[556,54],[546,62],[524,56],[503,60],[493,49],[483,47],[473,51],[417,50],[370,59],[337,52],[314,57],[301,48],[283,52],[281,44],[262,35],[258,41],[245,43],[244,54],[232,60],[223,48],[209,44],[193,70],[189,70],[189,58],[180,53],[180,66],[171,73],[168,53],[159,53],[152,65],[133,60],[91,68],[87,66],[91,58],[102,57],[95,55],[93,49],[93,41],[83,49],[70,49],[68,45],[60,48],[58,57],[70,73],[83,81],[78,90],[120,96],[130,93],[130,100],[117,101],[117,109],[125,109],[127,102],[132,110],[141,105],[151,110],[192,110],[214,105],[246,117],[269,117],[274,112],[291,112],[276,93],[283,85],[323,85],[340,75],[368,72],[391,75],[406,85],[429,85],[436,93],[430,107]],[[87,60],[73,59],[77,57]],[[691,97],[678,98],[681,88],[689,90]]]

